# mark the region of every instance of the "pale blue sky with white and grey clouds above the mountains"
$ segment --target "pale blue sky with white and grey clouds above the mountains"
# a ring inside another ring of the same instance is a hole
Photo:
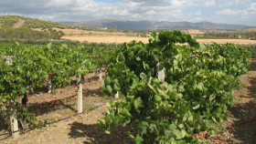
[[[53,22],[117,19],[256,26],[256,0],[0,0],[0,15]]]

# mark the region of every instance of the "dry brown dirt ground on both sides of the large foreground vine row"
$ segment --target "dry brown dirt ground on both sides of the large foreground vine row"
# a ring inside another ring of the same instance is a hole
[[[256,135],[256,57],[251,57],[251,70],[240,76],[243,84],[240,91],[236,90],[235,106],[229,108],[229,120],[218,126],[218,133],[208,139],[212,144],[254,144]],[[103,74],[104,76],[104,74]],[[92,74],[86,78],[93,77]],[[102,82],[98,77],[83,85],[83,109],[85,113],[75,117],[77,87],[73,83],[69,87],[57,89],[57,95],[52,96],[41,92],[29,95],[28,109],[35,113],[37,118],[66,118],[59,123],[47,125],[43,129],[20,132],[18,139],[4,135],[6,132],[5,119],[0,117],[0,143],[10,144],[132,144],[133,139],[126,136],[126,131],[133,131],[133,125],[127,128],[118,127],[114,135],[102,134],[96,127],[98,118],[106,115],[104,105],[110,99],[101,94]],[[100,107],[99,107],[100,106]],[[98,108],[99,107],[99,108]]]

